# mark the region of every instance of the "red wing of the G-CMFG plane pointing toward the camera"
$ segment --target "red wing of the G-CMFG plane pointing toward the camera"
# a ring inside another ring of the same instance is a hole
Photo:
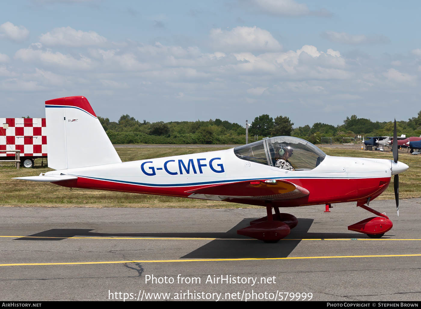
[[[279,201],[285,199],[297,199],[310,194],[299,185],[288,180],[248,180],[237,183],[224,183],[210,185],[195,190],[186,191],[192,193],[190,198],[210,199],[214,201],[226,201],[235,199],[253,199],[262,201]]]

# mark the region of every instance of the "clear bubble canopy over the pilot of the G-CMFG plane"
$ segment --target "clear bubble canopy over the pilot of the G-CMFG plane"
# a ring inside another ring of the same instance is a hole
[[[288,162],[294,170],[314,169],[325,159],[326,153],[311,142],[292,136],[277,136],[259,140],[234,148],[235,155],[242,159],[269,166],[275,166],[282,153],[288,152]]]

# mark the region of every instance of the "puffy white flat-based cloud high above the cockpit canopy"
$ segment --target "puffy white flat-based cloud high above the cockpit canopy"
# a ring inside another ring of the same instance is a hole
[[[212,29],[210,39],[215,48],[223,51],[280,51],[281,44],[269,31],[254,27],[235,27],[232,30]]]

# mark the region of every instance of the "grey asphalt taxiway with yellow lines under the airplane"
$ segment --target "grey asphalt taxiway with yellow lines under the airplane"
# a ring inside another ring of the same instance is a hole
[[[348,231],[373,215],[345,203],[329,213],[324,205],[283,209],[298,226],[276,244],[236,234],[265,215],[264,208],[0,207],[1,295],[14,301],[108,300],[123,298],[120,292],[132,296],[128,300],[146,300],[147,293],[245,300],[266,293],[279,301],[288,292],[312,293],[312,300],[421,300],[421,199],[400,200],[399,218],[392,200],[370,207],[394,224],[381,239]],[[209,281],[221,276],[257,282]]]

